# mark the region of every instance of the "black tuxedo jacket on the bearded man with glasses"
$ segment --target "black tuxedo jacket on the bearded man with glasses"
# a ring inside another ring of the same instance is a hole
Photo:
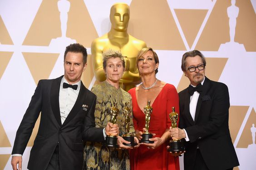
[[[192,170],[197,146],[210,170],[226,170],[239,165],[228,127],[229,94],[225,84],[205,77],[195,113],[189,111],[188,88],[179,93],[180,121],[190,141],[186,142],[185,170]]]

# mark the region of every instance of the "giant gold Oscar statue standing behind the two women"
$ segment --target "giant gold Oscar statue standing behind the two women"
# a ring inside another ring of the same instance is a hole
[[[102,53],[109,48],[120,50],[125,60],[125,72],[119,80],[120,87],[128,91],[141,80],[136,66],[138,52],[147,47],[146,43],[127,33],[130,9],[127,4],[117,3],[110,9],[111,30],[102,37],[94,39],[91,46],[94,76],[102,82],[106,79],[103,71]]]

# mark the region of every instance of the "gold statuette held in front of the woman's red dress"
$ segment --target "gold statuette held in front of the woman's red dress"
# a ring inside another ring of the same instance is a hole
[[[150,138],[153,137],[153,134],[148,132],[149,129],[149,122],[150,122],[150,115],[152,114],[153,108],[150,106],[150,100],[148,100],[148,105],[146,105],[144,107],[144,114],[145,114],[145,128],[146,128],[146,132],[143,132],[142,134],[142,139],[140,142],[143,143],[154,143],[153,141],[149,141]]]

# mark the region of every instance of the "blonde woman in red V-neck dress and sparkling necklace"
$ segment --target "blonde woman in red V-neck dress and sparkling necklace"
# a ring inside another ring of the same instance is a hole
[[[179,98],[176,88],[156,78],[159,60],[152,48],[143,48],[137,56],[137,67],[142,84],[129,90],[133,103],[133,123],[136,137],[141,140],[145,132],[144,106],[148,100],[153,107],[148,132],[155,135],[153,143],[141,143],[130,151],[131,170],[179,170],[178,157],[167,152],[171,138],[169,113],[172,107],[179,113]]]

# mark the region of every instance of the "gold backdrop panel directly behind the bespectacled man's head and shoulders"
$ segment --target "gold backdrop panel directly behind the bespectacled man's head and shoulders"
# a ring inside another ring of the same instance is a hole
[[[218,81],[222,71],[226,65],[226,61],[228,58],[212,58],[212,57],[207,57],[206,58],[206,76],[207,78],[209,78],[210,80],[213,81]],[[217,67],[216,67],[217,66]],[[190,81],[188,80],[187,77],[185,77],[184,75],[182,75],[182,78],[177,86],[177,91],[180,92],[184,89],[186,89],[188,87],[188,85],[190,84]]]

